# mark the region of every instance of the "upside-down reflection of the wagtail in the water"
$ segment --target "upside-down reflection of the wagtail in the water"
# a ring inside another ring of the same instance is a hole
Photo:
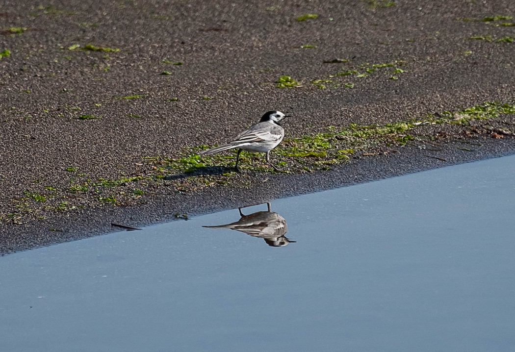
[[[242,217],[236,222],[227,225],[202,226],[209,228],[230,228],[231,230],[245,232],[252,237],[263,238],[271,247],[283,247],[288,243],[295,243],[284,236],[288,232],[286,220],[277,213],[270,210],[268,212],[256,212],[249,215],[242,213],[242,208],[238,208],[239,215]]]

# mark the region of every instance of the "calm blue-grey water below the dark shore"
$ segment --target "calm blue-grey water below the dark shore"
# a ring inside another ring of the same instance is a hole
[[[514,174],[508,156],[0,257],[0,350],[511,350]]]

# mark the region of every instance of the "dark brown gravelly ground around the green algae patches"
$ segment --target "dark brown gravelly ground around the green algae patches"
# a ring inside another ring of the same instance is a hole
[[[0,59],[0,252],[101,233],[111,219],[136,225],[161,221],[174,213],[196,214],[515,150],[512,137],[484,133],[475,137],[483,147],[465,152],[456,148],[461,130],[438,126],[432,133],[447,131],[439,151],[446,162],[425,156],[420,146],[406,146],[331,171],[257,174],[244,190],[211,187],[143,196],[145,204],[128,208],[70,195],[66,202],[83,208],[12,220],[16,204],[35,183],[70,186],[75,173],[66,169],[91,179],[138,174],[147,167],[145,156],[178,157],[184,147],[219,143],[268,110],[293,114],[285,124],[287,135],[301,136],[327,126],[386,124],[515,100],[515,42],[497,42],[515,38],[515,27],[495,26],[515,21],[456,20],[515,15],[512,1],[396,1],[375,8],[369,3],[374,2],[0,0],[0,52],[11,52]],[[305,13],[319,17],[295,20]],[[27,30],[11,34],[11,27]],[[80,49],[89,43],[120,50]],[[300,48],[306,44],[316,47]],[[349,61],[323,63],[335,58]],[[386,67],[368,77],[331,77],[339,87],[331,83],[321,90],[311,83],[365,63],[394,61],[404,62],[397,80],[389,79],[394,74]],[[277,89],[274,82],[282,75],[301,86]],[[352,89],[344,87],[349,82]],[[132,95],[141,97],[118,99]],[[501,119],[505,128],[513,122]],[[256,181],[263,178],[268,182]]]

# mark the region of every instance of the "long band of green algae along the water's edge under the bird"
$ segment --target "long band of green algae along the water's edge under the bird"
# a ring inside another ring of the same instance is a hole
[[[396,148],[403,148],[408,143],[414,146],[433,144],[438,140],[439,134],[435,128],[438,130],[439,125],[455,125],[464,131],[474,131],[476,127],[471,125],[473,120],[490,120],[486,122],[491,126],[487,131],[515,136],[510,131],[512,127],[495,127],[492,120],[508,114],[515,114],[513,102],[493,101],[385,125],[329,126],[317,133],[285,138],[281,145],[272,150],[272,162],[281,167],[280,173],[329,170],[352,157],[377,155],[385,149],[398,152]],[[33,189],[26,189],[23,195],[12,199],[11,212],[0,214],[0,221],[19,224],[24,219],[43,219],[52,213],[78,208],[130,206],[145,203],[146,197],[152,195],[193,192],[205,187],[249,188],[253,182],[263,179],[256,178],[256,173],[277,173],[265,163],[262,153],[249,152],[242,153],[240,157],[239,165],[243,173],[236,173],[233,169],[236,150],[199,155],[201,150],[211,147],[199,145],[184,148],[182,156],[176,158],[144,156],[138,164],[141,166],[139,171],[116,179],[93,177],[78,172],[75,167],[68,167],[66,170],[70,172],[70,180],[66,188],[38,180]]]

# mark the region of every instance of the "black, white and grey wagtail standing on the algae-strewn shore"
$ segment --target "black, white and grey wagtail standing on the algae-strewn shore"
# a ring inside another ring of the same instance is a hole
[[[242,150],[251,152],[266,153],[265,160],[270,164],[274,170],[279,171],[276,166],[270,163],[270,150],[277,147],[281,140],[284,138],[284,128],[280,122],[283,118],[289,117],[280,111],[269,111],[261,117],[261,120],[251,126],[247,131],[240,133],[231,142],[224,145],[203,150],[200,155],[214,154],[220,151],[238,148],[238,155],[236,156],[236,165],[234,169],[238,170],[239,153]]]

